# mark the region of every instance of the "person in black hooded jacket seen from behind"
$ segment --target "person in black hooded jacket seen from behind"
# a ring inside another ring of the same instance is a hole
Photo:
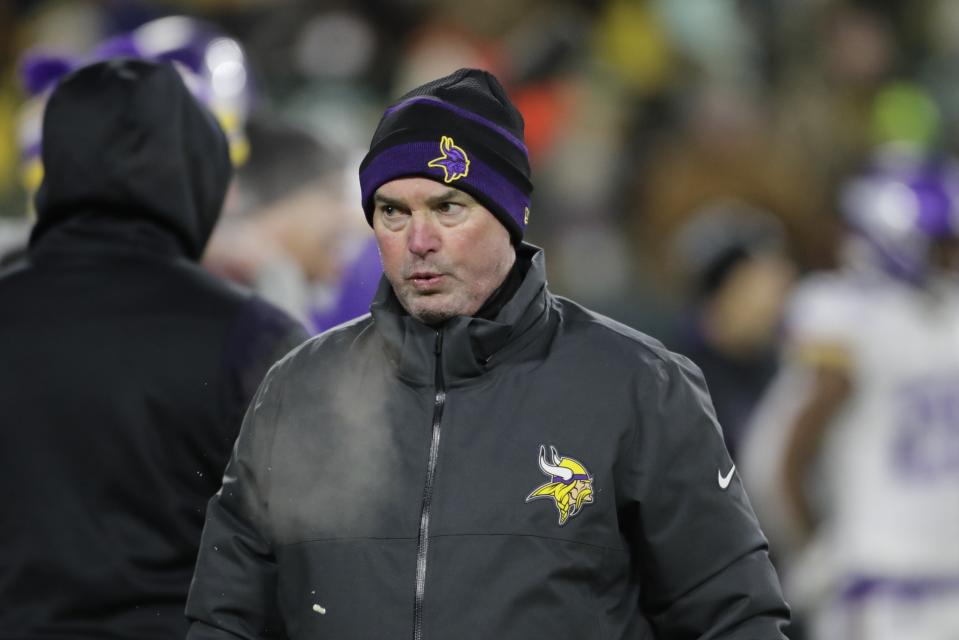
[[[197,264],[231,166],[169,64],[62,79],[42,161],[0,275],[0,637],[182,637],[243,411],[306,335]]]

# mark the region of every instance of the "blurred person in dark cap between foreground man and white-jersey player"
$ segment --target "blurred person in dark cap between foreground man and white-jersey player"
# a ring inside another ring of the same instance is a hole
[[[679,229],[675,252],[689,296],[675,348],[702,369],[737,460],[742,430],[776,372],[796,266],[776,217],[733,200],[696,212]]]

